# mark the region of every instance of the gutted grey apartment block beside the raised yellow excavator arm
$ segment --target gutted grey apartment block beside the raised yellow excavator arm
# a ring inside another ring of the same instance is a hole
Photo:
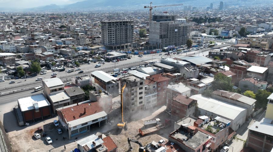
[[[145,79],[129,75],[122,77],[121,86],[126,84],[123,91],[123,104],[125,112],[134,113],[144,110],[145,104]]]

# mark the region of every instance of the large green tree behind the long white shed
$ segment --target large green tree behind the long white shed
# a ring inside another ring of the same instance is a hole
[[[214,75],[214,81],[212,81],[212,89],[213,90],[225,90],[232,91],[233,84],[231,83],[232,79],[230,77],[225,76],[222,73],[217,73]]]

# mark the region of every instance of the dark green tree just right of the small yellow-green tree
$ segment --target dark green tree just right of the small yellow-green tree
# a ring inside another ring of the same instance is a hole
[[[267,105],[267,102],[268,102],[267,98],[270,96],[270,94],[271,94],[271,92],[268,92],[266,90],[258,90],[258,92],[256,93],[256,97],[255,97],[255,99],[257,100],[255,107],[257,109],[265,108]]]

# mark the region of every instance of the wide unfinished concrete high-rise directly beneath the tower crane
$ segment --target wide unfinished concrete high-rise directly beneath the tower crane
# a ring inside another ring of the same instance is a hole
[[[167,18],[169,15],[157,15],[153,18]],[[156,48],[164,48],[170,45],[184,45],[189,38],[190,25],[176,23],[170,19],[157,19],[151,21],[149,25],[149,45],[155,45]]]

